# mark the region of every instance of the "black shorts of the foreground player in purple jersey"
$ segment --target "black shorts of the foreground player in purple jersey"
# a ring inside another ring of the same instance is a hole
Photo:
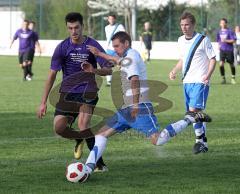
[[[61,93],[54,116],[64,115],[73,117],[75,120],[78,117],[80,106],[87,104],[95,108],[98,102],[96,93]]]

